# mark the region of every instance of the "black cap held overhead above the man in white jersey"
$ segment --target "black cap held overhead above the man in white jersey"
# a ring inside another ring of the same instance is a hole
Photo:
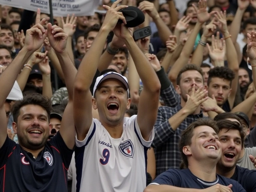
[[[145,20],[144,13],[137,7],[128,6],[120,10],[123,13],[126,20],[126,27],[136,27],[142,24]],[[118,23],[122,23],[122,20],[119,20]]]

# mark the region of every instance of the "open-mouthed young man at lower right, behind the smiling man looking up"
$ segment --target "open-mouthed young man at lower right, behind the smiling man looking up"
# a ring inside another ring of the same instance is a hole
[[[256,171],[236,165],[245,136],[240,122],[233,118],[222,119],[218,120],[217,126],[220,129],[218,136],[222,147],[222,155],[216,166],[217,174],[236,180],[246,192],[256,192]]]

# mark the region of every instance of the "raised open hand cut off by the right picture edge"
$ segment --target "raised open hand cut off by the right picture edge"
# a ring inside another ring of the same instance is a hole
[[[252,31],[247,34],[247,50],[246,53],[250,62],[256,61],[256,32]]]

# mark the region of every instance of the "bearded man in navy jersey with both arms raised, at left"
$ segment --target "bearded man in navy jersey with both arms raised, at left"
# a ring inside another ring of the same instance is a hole
[[[47,30],[37,11],[36,25],[26,31],[24,47],[0,76],[0,189],[1,191],[67,191],[67,169],[75,144],[72,86],[75,70],[66,50],[67,34],[48,24]],[[51,102],[40,94],[28,95],[12,106],[14,132],[19,144],[7,137],[4,102],[25,62],[48,37],[62,66],[69,91],[69,104],[62,129],[47,142],[51,124]],[[12,182],[8,179],[13,178]],[[58,182],[56,182],[58,181]]]

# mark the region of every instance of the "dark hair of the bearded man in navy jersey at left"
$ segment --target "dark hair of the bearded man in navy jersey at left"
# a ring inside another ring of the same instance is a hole
[[[24,96],[22,100],[18,100],[14,103],[14,105],[11,108],[14,122],[17,123],[18,121],[18,116],[20,115],[20,108],[26,105],[41,106],[44,110],[46,110],[47,116],[48,116],[48,122],[50,121],[50,113],[52,111],[51,100],[46,96],[42,96],[41,94],[34,93],[34,94],[28,94],[27,96]]]

